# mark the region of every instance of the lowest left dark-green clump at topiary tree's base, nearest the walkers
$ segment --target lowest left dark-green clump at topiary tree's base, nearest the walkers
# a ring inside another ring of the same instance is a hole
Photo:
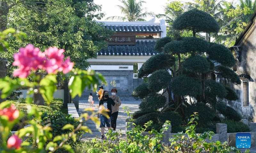
[[[145,114],[143,116],[140,116],[138,119],[136,119],[134,121],[134,123],[137,126],[138,125],[143,126],[145,123],[152,120],[153,124],[157,124],[158,123],[158,119],[157,119],[158,116],[159,116],[159,113],[148,113],[148,114]]]

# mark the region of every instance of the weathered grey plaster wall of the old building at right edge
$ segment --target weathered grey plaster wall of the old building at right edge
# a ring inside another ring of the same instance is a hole
[[[254,25],[255,28],[255,25]],[[252,29],[253,30],[253,27]],[[238,94],[239,99],[230,104],[234,109],[236,109],[240,114],[243,115],[244,119],[248,119],[250,121],[256,122],[256,31],[250,31],[250,35],[246,35],[245,39],[241,42],[239,47],[239,57],[240,62],[237,61],[237,71],[238,75],[240,74],[249,74],[249,106],[243,106],[243,85],[235,85],[232,84],[233,89]],[[243,80],[242,80],[243,83]]]

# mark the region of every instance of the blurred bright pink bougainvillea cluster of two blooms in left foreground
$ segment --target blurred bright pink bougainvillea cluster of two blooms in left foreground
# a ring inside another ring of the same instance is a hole
[[[50,47],[41,52],[39,48],[28,44],[25,48],[20,47],[20,52],[14,54],[14,66],[19,66],[19,69],[15,69],[13,76],[20,78],[26,78],[31,71],[38,69],[44,69],[48,74],[57,72],[63,72],[67,74],[74,66],[73,62],[70,62],[68,57],[64,60],[64,49],[58,49],[57,47]]]

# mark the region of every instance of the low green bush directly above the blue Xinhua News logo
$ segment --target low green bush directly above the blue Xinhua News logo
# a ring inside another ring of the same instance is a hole
[[[227,124],[228,133],[250,132],[249,126],[241,121],[223,120],[221,123]]]

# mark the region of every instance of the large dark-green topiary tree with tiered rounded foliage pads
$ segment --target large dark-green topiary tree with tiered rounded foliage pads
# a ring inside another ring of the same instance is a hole
[[[138,86],[132,93],[134,97],[144,98],[140,109],[145,109],[142,106],[147,107],[144,103],[157,103],[151,101],[148,95],[161,89],[168,92],[170,102],[161,103],[164,109],[160,113],[172,110],[183,117],[186,116],[184,108],[191,106],[188,99],[191,101],[193,98],[197,103],[209,104],[213,110],[219,108],[216,105],[221,99],[236,100],[238,97],[232,96],[236,94],[231,88],[206,77],[208,74],[218,73],[234,84],[241,84],[237,74],[230,69],[235,64],[231,51],[223,45],[196,38],[197,32],[217,33],[220,30],[214,18],[204,11],[191,10],[179,16],[174,21],[173,28],[191,30],[193,37],[181,40],[165,37],[156,42],[154,49],[159,54],[142,65],[138,77],[152,75],[147,83]],[[225,115],[228,116],[227,112]]]

